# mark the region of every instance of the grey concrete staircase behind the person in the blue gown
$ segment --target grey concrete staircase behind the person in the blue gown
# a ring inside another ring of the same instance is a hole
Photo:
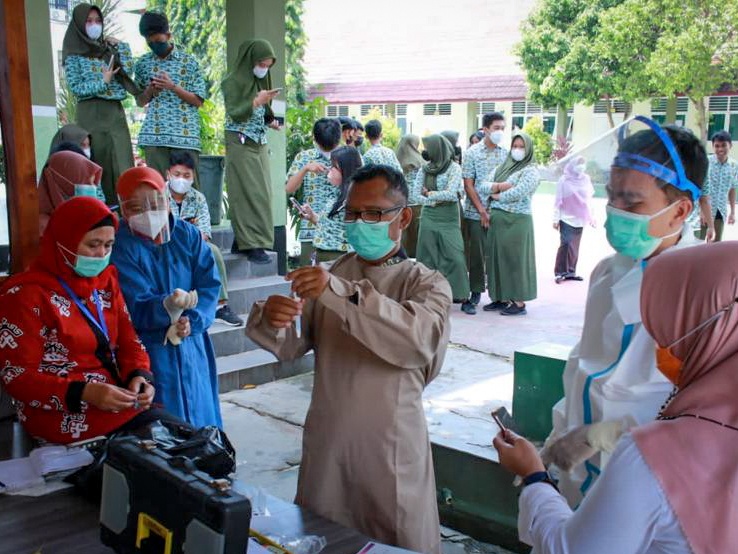
[[[289,283],[277,275],[276,253],[270,252],[271,261],[264,265],[253,264],[240,254],[231,254],[233,231],[227,221],[213,227],[213,242],[222,250],[228,271],[228,303],[244,321],[257,301],[271,294],[289,293]],[[221,393],[313,369],[312,352],[294,362],[280,362],[249,339],[244,327],[230,327],[216,321],[209,334],[215,349]]]

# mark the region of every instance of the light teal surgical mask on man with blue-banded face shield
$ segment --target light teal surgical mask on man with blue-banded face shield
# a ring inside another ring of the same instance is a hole
[[[613,206],[607,206],[607,220],[605,220],[605,231],[607,242],[616,252],[633,258],[644,260],[653,254],[664,239],[674,237],[682,232],[680,227],[674,233],[664,237],[653,237],[648,233],[648,227],[653,219],[670,210],[677,202],[669,204],[663,210],[653,215],[634,214],[619,210]]]

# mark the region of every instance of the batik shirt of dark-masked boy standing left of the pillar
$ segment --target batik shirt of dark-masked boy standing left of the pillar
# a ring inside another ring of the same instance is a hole
[[[141,56],[136,62],[136,83],[145,88],[155,75],[162,72],[187,92],[203,100],[208,97],[200,66],[190,54],[174,47],[166,58],[153,52]],[[162,90],[146,107],[138,145],[200,150],[198,108],[182,100],[174,91]]]

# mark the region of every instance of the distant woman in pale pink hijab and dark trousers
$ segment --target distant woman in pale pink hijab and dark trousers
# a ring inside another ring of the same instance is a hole
[[[582,156],[573,158],[564,168],[564,174],[556,185],[554,229],[561,236],[554,265],[557,283],[582,280],[576,272],[579,243],[582,240],[584,226],[595,225],[590,205],[594,187],[585,170],[584,158]]]

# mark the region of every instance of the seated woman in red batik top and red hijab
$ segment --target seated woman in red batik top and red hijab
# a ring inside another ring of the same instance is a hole
[[[34,437],[105,435],[151,406],[149,357],[108,265],[117,228],[99,200],[64,202],[37,260],[0,289],[0,379]]]

